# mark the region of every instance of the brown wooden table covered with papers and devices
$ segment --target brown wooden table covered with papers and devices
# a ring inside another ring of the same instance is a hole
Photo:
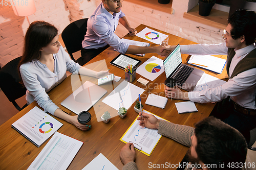
[[[136,29],[139,32],[145,27],[146,26],[144,25],[140,25]],[[195,44],[195,42],[180,38],[178,36],[168,34],[154,28],[151,29],[169,35],[170,45],[176,45],[178,43]],[[130,37],[129,35],[126,35],[124,36],[124,38],[146,42],[146,40],[141,39],[137,36]],[[156,44],[152,43],[152,45]],[[114,59],[118,54],[119,53],[114,51],[112,47],[109,47],[107,50],[102,52],[100,55],[95,57],[86,65],[94,70],[102,70],[102,68],[105,69],[103,65],[104,63],[106,63],[106,66],[110,69],[110,72],[124,79],[124,71],[120,68],[117,68],[109,64],[110,61]],[[138,58],[142,60],[142,62],[145,62],[148,58],[152,57],[153,55],[159,57],[160,59],[164,59],[164,57],[160,57],[157,54],[146,54],[145,57],[137,57],[135,55],[130,56]],[[225,58],[226,56],[218,57]],[[183,63],[186,63],[188,59],[188,55],[182,54]],[[97,66],[95,66],[95,62]],[[220,79],[227,77],[226,68],[224,68],[221,75],[214,74],[213,72],[209,72],[207,70],[204,71]],[[48,94],[50,95],[51,100],[57,106],[59,106],[60,109],[68,112],[71,115],[75,115],[75,113],[61,106],[60,103],[72,93],[72,88],[76,89],[81,85],[81,82],[79,80],[82,80],[82,82],[89,80],[97,84],[97,79],[90,78],[87,76],[81,76],[81,79],[74,79],[78,81],[73,81],[72,76],[69,76],[61,84],[59,84],[50,92],[48,92]],[[146,86],[137,82],[137,80],[140,77],[142,76],[137,74],[135,81],[133,81],[133,84],[145,89],[144,94],[142,95],[142,104],[144,104],[146,101],[145,96],[147,96],[150,93],[157,93],[159,95],[164,96],[163,83],[166,79],[164,72],[157,79],[155,79],[155,81],[150,81],[150,83],[148,83]],[[108,89],[108,93],[105,94],[104,97],[107,96],[121,81],[122,80],[120,80],[119,82],[113,82],[113,84],[109,83],[106,85],[102,85],[101,87]],[[58,130],[58,132],[84,142],[81,149],[79,150],[79,152],[71,162],[70,166],[68,167],[68,169],[82,169],[89,162],[91,162],[99,153],[102,153],[106,158],[108,158],[118,169],[122,169],[123,167],[123,164],[119,158],[119,152],[121,148],[124,146],[124,143],[121,142],[119,139],[125,133],[127,128],[129,128],[130,125],[133,123],[135,118],[138,116],[138,113],[134,111],[133,107],[135,106],[135,104],[133,104],[131,108],[127,111],[127,115],[124,118],[121,118],[119,116],[112,117],[108,124],[98,122],[97,118],[99,118],[104,113],[104,111],[109,111],[111,115],[113,115],[114,112],[115,114],[117,112],[116,110],[111,109],[109,106],[106,106],[101,101],[102,99],[95,104],[95,106],[97,107],[93,107],[89,110],[89,112],[92,114],[92,128],[89,131],[83,132],[77,129],[72,124],[69,124],[64,120],[55,117],[63,124],[63,126]],[[199,120],[208,117],[211,110],[215,106],[215,104],[212,103],[196,103],[198,112],[178,114],[175,107],[176,102],[182,101],[168,99],[165,109],[160,109],[145,104],[143,109],[150,111],[154,114],[157,114],[160,117],[169,120],[170,122],[193,127],[193,125],[197,123]],[[37,148],[29,140],[27,140],[25,137],[23,137],[17,131],[11,128],[11,124],[13,124],[18,118],[22,117],[35,106],[38,105],[36,102],[33,102],[0,127],[0,169],[27,169],[29,165],[33,162],[33,160],[36,158],[36,156],[40,153],[40,151],[45,147],[47,142],[50,140],[48,139],[44,144],[41,145],[41,147]],[[144,155],[141,152],[136,151],[136,163],[139,169],[151,169],[148,167],[150,162],[151,164],[164,164],[165,162],[176,164],[181,162],[187,150],[188,148],[185,147],[184,145],[163,136],[156,145],[156,148],[154,149],[150,157]]]

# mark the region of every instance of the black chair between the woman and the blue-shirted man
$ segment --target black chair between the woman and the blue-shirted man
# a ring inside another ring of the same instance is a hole
[[[87,20],[83,18],[70,23],[61,33],[61,37],[72,60],[83,65],[82,58],[74,59],[73,53],[82,48],[82,40],[87,32]]]

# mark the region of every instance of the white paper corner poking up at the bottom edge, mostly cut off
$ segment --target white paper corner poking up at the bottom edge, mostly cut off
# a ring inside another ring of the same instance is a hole
[[[94,158],[90,163],[88,163],[82,170],[118,170],[118,168],[113,165],[104,155],[101,153]]]

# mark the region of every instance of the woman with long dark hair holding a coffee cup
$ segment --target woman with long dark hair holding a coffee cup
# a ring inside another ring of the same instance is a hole
[[[97,72],[81,67],[70,59],[58,38],[58,30],[48,22],[34,21],[29,26],[24,53],[18,66],[22,83],[27,88],[26,100],[28,104],[36,101],[45,112],[66,120],[81,130],[88,130],[91,126],[82,125],[77,116],[63,112],[50,100],[47,92],[67,77],[66,71],[101,78],[108,75],[108,70]]]

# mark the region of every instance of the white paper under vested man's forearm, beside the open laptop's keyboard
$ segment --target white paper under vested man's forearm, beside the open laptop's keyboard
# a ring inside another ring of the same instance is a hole
[[[209,88],[216,88],[220,85],[223,85],[224,83],[226,83],[224,80],[220,80],[214,76],[210,76],[204,73],[200,80],[197,82],[197,85],[193,91],[202,91]]]

